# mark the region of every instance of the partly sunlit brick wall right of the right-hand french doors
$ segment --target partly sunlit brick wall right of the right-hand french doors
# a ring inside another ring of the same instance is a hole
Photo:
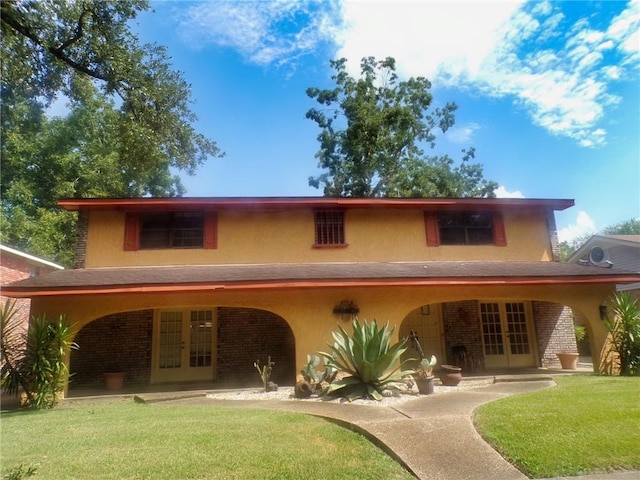
[[[532,302],[542,367],[559,367],[558,352],[577,352],[573,312],[558,303]]]

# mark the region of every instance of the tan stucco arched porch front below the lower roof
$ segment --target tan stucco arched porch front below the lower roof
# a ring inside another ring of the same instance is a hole
[[[361,320],[378,319],[396,326],[421,305],[461,300],[539,300],[571,307],[589,328],[592,352],[604,345],[606,329],[599,318],[599,305],[612,294],[607,285],[537,285],[537,286],[425,286],[425,287],[343,287],[263,291],[210,291],[199,293],[119,294],[34,298],[34,313],[56,316],[66,313],[78,329],[87,323],[116,312],[147,308],[193,306],[251,307],[280,315],[291,327],[295,339],[296,371],[306,356],[326,350],[331,332],[341,324],[349,325],[333,314],[342,300],[351,300],[360,308]],[[594,358],[597,365],[597,359]]]

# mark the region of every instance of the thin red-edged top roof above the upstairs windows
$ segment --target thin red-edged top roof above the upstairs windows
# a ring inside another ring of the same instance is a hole
[[[273,210],[305,208],[422,208],[487,209],[543,208],[564,210],[569,199],[530,198],[331,198],[331,197],[171,197],[171,198],[81,198],[62,199],[66,210],[164,210],[235,209]]]

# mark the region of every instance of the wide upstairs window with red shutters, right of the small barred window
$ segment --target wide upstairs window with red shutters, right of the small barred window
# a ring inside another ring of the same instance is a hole
[[[500,212],[426,212],[427,245],[506,246]]]

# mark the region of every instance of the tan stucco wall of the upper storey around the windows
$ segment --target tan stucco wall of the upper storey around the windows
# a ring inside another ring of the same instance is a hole
[[[314,248],[311,210],[218,212],[218,248],[124,251],[123,212],[90,214],[86,267],[551,259],[543,212],[506,212],[507,246],[428,247],[421,210],[352,209],[346,247]]]

